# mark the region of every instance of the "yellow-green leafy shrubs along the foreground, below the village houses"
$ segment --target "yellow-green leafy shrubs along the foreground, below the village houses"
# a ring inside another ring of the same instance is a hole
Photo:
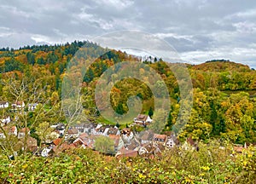
[[[155,158],[117,159],[89,149],[74,149],[54,158],[31,155],[9,160],[0,155],[5,183],[254,183],[255,148],[242,153],[200,145],[200,150],[173,148]],[[231,154],[231,155],[230,155]]]

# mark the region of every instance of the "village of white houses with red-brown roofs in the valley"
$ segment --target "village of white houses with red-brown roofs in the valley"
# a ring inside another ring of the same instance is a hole
[[[16,101],[11,105],[11,111],[20,112],[25,107],[23,101]],[[28,104],[28,111],[34,111],[38,104]],[[9,108],[8,101],[0,101],[0,108]],[[0,140],[6,139],[8,135],[18,138],[18,147],[21,150],[27,149],[30,152],[42,157],[49,157],[68,149],[76,147],[89,148],[96,150],[95,143],[99,137],[108,137],[108,141],[113,143],[113,152],[117,158],[122,157],[154,157],[161,155],[165,150],[173,147],[181,147],[185,150],[199,151],[198,142],[193,141],[191,137],[187,138],[183,144],[178,140],[177,135],[172,131],[166,131],[164,134],[156,134],[152,129],[147,129],[148,124],[154,124],[154,120],[145,114],[138,114],[133,119],[133,123],[123,129],[119,129],[117,125],[99,124],[99,123],[80,123],[72,124],[67,127],[66,124],[58,123],[51,125],[52,132],[45,140],[41,147],[38,141],[31,136],[29,128],[17,129],[14,122],[9,116],[2,117],[0,129]],[[12,126],[9,126],[12,124]],[[143,131],[135,131],[133,126],[143,127]],[[235,146],[236,152],[241,152],[246,148]],[[110,153],[104,152],[103,153]]]

